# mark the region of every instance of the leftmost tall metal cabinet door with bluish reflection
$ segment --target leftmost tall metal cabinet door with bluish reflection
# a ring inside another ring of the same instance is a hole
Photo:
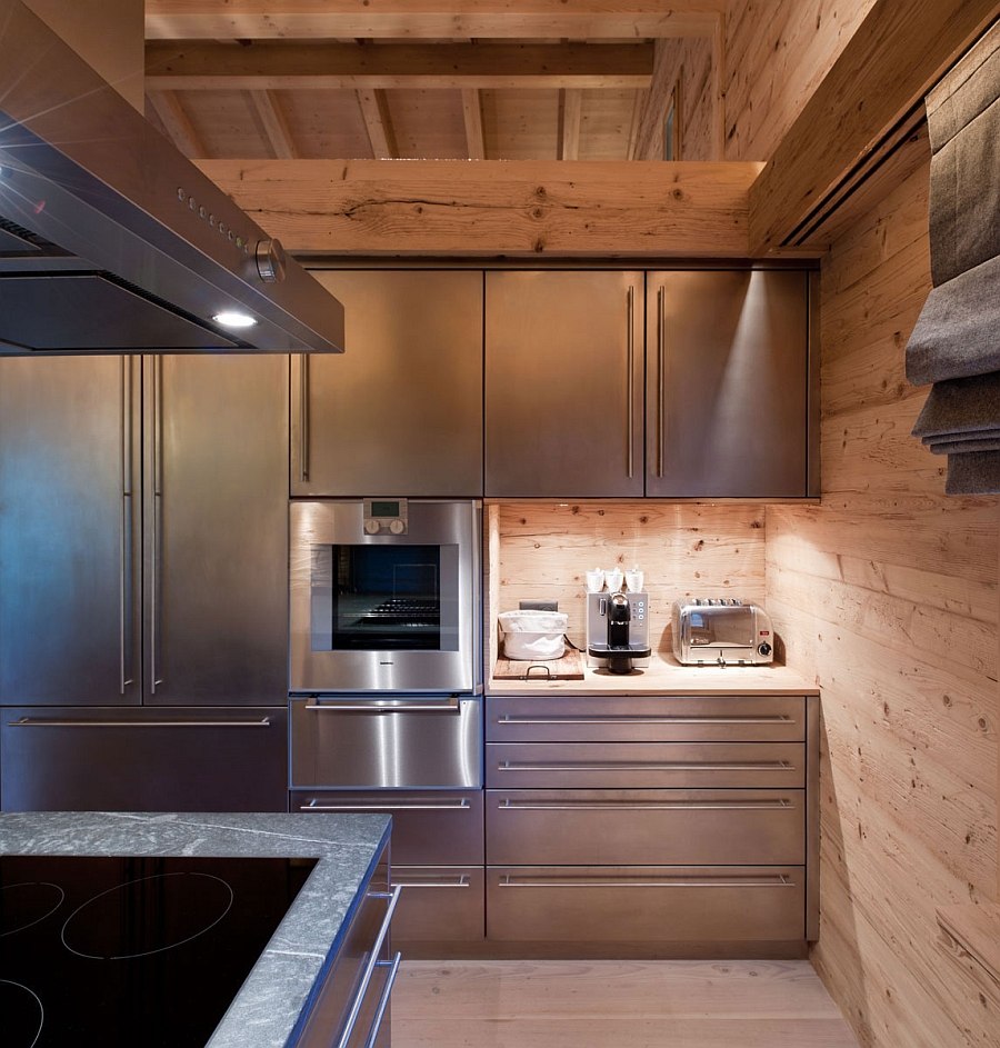
[[[139,361],[0,360],[0,701],[140,698]]]

